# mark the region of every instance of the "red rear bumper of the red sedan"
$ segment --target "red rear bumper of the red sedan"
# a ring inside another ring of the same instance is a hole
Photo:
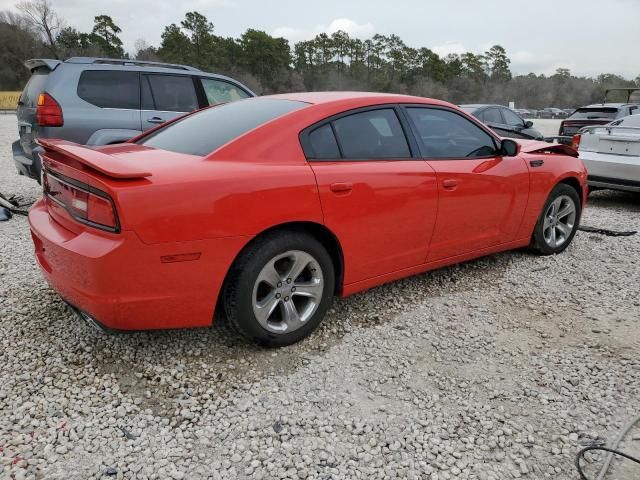
[[[49,284],[76,309],[113,330],[208,326],[243,237],[144,244],[131,231],[75,234],[43,200],[29,211],[35,256]],[[237,250],[236,250],[237,249]],[[167,255],[201,252],[195,261]]]

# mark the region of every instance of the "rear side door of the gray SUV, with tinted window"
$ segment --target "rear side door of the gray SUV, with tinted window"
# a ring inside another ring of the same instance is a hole
[[[149,73],[141,78],[142,130],[148,130],[201,105],[197,80],[191,75]]]

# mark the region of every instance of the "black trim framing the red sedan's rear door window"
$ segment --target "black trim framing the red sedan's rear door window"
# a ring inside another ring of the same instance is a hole
[[[335,127],[333,122],[339,120],[344,117],[349,117],[351,115],[356,115],[358,113],[369,112],[373,110],[393,110],[398,118],[398,122],[400,124],[400,128],[402,129],[402,133],[404,134],[405,141],[407,142],[407,146],[409,147],[409,157],[406,158],[344,158],[342,145],[340,144],[340,139],[336,134]],[[313,147],[311,146],[311,142],[309,140],[309,134],[326,124],[331,126],[331,131],[333,132],[333,136],[338,145],[338,150],[340,152],[339,158],[314,158]],[[330,117],[324,118],[312,125],[309,125],[304,130],[302,130],[298,134],[298,138],[300,140],[300,145],[302,147],[302,151],[304,152],[304,156],[308,162],[405,162],[405,161],[415,161],[418,159],[422,159],[419,146],[417,140],[414,136],[415,134],[410,129],[410,125],[405,118],[404,112],[400,108],[400,105],[397,103],[380,103],[376,105],[367,105],[366,107],[358,107],[352,108],[349,110],[345,110],[340,113],[336,113],[331,115]]]

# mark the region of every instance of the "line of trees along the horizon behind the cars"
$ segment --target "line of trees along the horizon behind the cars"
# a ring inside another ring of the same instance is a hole
[[[21,89],[30,73],[24,60],[104,56],[181,63],[239,79],[256,93],[304,90],[367,90],[441,98],[453,103],[515,101],[521,108],[571,108],[599,102],[606,88],[640,87],[634,80],[603,73],[578,77],[564,68],[553,75],[513,75],[500,45],[483,54],[440,56],[406,45],[397,35],[359,39],[338,31],[293,46],[284,38],[248,29],[223,37],[199,12],[188,12],[164,28],[161,42],[143,39],[124,51],[122,32],[107,15],[94,18],[90,32],[66,26],[50,0],[24,0],[18,13],[0,12],[0,90]],[[616,100],[615,98],[612,100]]]

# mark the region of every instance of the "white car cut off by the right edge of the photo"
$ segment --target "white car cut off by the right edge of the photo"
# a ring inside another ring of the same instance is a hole
[[[640,192],[640,115],[584,127],[573,137],[590,189]]]

